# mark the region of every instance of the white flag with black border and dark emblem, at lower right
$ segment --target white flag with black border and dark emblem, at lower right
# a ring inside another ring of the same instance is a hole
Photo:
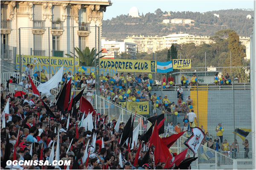
[[[194,154],[197,153],[198,148],[204,140],[204,132],[199,127],[191,128],[192,135],[184,142],[184,144],[193,151]]]

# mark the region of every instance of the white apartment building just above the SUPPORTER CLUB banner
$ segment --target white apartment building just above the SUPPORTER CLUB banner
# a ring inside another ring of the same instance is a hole
[[[134,57],[137,44],[131,42],[117,42],[115,40],[108,41],[105,38],[102,38],[101,45],[102,48],[105,48],[108,51],[103,58],[114,58],[115,52],[116,55],[120,55],[124,52]]]

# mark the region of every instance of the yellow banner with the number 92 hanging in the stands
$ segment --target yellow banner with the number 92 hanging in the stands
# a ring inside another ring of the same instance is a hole
[[[119,105],[125,107],[126,102],[119,102]],[[127,102],[127,109],[138,114],[148,114],[148,102]]]

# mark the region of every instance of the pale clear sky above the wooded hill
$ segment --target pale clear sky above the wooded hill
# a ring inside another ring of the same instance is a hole
[[[139,9],[140,15],[154,13],[157,8],[164,11],[207,12],[221,9],[254,8],[253,0],[111,0],[104,12],[103,20],[128,14],[131,7]]]

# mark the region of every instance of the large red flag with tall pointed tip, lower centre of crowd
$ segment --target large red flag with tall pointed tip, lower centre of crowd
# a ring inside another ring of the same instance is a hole
[[[167,161],[167,159],[171,160],[172,155],[169,152],[169,148],[166,147],[166,145],[162,142],[162,140],[158,135],[157,121],[155,123],[154,131],[149,140],[149,143],[155,146],[155,151],[154,151],[155,164],[158,164],[158,162],[167,162],[166,163],[168,164],[167,167],[169,167],[169,162]]]

